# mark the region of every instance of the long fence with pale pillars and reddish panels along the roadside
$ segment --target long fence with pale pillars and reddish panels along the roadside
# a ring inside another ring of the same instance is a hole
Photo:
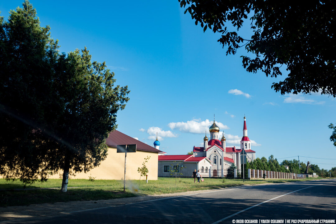
[[[254,170],[248,169],[248,176],[246,179],[254,180],[254,179],[263,179],[265,175],[265,179],[305,179],[307,175],[296,174],[296,173],[284,173],[277,171],[268,171],[268,170]],[[235,177],[237,177],[237,169],[235,169]]]

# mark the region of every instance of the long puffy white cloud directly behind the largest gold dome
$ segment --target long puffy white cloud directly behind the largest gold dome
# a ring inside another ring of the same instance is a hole
[[[168,127],[172,130],[178,129],[181,132],[190,132],[190,133],[205,133],[209,130],[209,127],[212,125],[213,121],[206,119],[201,121],[200,119],[193,119],[187,122],[171,122],[168,124]],[[229,129],[226,125],[223,125],[220,122],[215,122],[216,125],[221,129]]]

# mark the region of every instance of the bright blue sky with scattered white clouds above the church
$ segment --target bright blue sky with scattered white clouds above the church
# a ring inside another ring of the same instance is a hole
[[[7,19],[22,1],[1,1],[1,15]],[[240,148],[245,114],[257,157],[300,155],[320,168],[336,166],[328,128],[336,123],[335,98],[276,93],[272,83],[285,77],[246,72],[240,58],[246,52],[226,56],[218,34],[203,33],[177,0],[31,3],[61,52],[86,46],[93,60],[106,61],[118,85],[128,85],[119,131],[149,145],[159,131],[161,150],[186,154],[203,142],[215,114],[227,146]]]

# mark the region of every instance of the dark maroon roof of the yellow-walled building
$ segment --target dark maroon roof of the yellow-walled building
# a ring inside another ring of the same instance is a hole
[[[136,144],[136,150],[149,151],[149,152],[162,152],[146,143],[143,143],[135,138],[132,138],[124,133],[114,130],[110,133],[109,137],[106,139],[106,144],[108,146],[117,147],[117,145],[130,145]]]

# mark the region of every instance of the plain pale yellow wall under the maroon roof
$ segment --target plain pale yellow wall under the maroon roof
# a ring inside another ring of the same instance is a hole
[[[138,167],[142,167],[144,158],[151,156],[151,158],[146,163],[148,168],[149,180],[158,179],[158,153],[157,152],[146,152],[146,151],[136,151],[127,153],[126,160],[126,180],[139,179],[140,174],[138,173]],[[124,168],[125,168],[125,153],[117,153],[117,148],[109,147],[108,155],[106,160],[102,161],[101,164],[93,168],[87,173],[77,173],[75,177],[71,176],[71,179],[89,179],[89,176],[95,177],[96,179],[108,179],[108,180],[120,180],[124,179]],[[59,174],[49,177],[50,179],[59,178]],[[141,177],[143,179],[143,177]]]

